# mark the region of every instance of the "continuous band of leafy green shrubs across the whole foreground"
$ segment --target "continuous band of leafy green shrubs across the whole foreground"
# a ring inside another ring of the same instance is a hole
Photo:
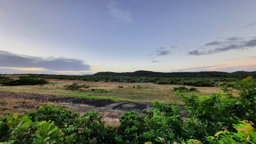
[[[0,142],[5,143],[256,143],[256,84],[252,77],[220,84],[221,92],[199,99],[179,94],[189,113],[179,106],[153,103],[143,115],[126,112],[120,126],[105,126],[102,115],[83,116],[69,109],[46,105],[26,116],[0,119]],[[239,91],[239,96],[233,95]],[[8,141],[8,142],[7,142]]]

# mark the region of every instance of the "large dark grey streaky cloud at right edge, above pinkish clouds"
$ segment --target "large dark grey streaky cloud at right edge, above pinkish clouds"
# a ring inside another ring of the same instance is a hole
[[[189,51],[189,55],[205,55],[205,54],[213,54],[219,53],[223,51],[229,50],[244,50],[249,48],[254,48],[256,46],[256,37],[247,38],[244,40],[243,38],[231,37],[226,39],[225,41],[213,41],[206,43],[201,46],[199,50]],[[205,50],[207,49],[207,50]]]

